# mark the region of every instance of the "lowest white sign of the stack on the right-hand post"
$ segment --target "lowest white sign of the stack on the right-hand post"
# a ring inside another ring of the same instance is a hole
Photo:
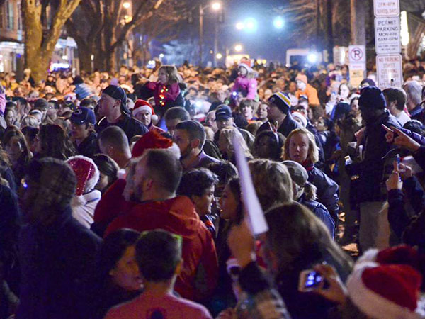
[[[402,55],[377,55],[376,72],[378,73],[378,86],[380,89],[402,87]]]

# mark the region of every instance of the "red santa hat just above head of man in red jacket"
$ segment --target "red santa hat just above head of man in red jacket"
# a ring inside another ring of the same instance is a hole
[[[136,158],[143,155],[149,149],[170,149],[177,157],[180,157],[180,149],[172,140],[162,136],[156,130],[149,130],[133,146],[131,157]]]

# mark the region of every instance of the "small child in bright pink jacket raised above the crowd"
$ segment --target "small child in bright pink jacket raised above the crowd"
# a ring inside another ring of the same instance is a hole
[[[249,60],[242,60],[239,63],[239,77],[234,80],[232,98],[236,97],[239,92],[247,99],[256,99],[257,82],[255,79],[255,72],[251,69]]]

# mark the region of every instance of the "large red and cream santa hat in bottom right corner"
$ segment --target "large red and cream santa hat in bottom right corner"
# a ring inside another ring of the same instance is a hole
[[[419,319],[417,296],[422,276],[407,265],[362,262],[347,280],[351,301],[370,318]]]

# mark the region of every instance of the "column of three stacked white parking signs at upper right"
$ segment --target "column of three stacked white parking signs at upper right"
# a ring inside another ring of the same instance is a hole
[[[380,89],[403,84],[399,0],[373,0],[375,51]]]

